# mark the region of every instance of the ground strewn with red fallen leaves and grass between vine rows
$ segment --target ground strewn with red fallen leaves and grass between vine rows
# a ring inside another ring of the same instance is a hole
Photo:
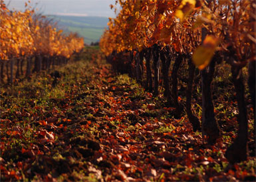
[[[254,179],[255,157],[233,166],[223,157],[232,133],[205,144],[164,98],[108,64],[59,72],[17,86],[16,96],[2,92],[1,181]]]

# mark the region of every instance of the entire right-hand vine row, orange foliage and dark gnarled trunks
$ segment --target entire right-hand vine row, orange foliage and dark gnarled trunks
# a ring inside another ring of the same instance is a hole
[[[146,80],[144,85],[155,96],[162,70],[164,96],[176,108],[176,117],[186,110],[193,130],[201,130],[211,144],[221,137],[211,94],[215,65],[223,61],[230,64],[239,130],[225,156],[232,163],[246,160],[248,116],[242,68],[249,67],[247,83],[255,120],[256,3],[247,0],[119,0],[116,3],[120,12],[116,18],[110,18],[109,27],[100,39],[100,48],[108,62],[141,84]],[[178,73],[182,64],[188,68],[185,108],[178,97]],[[191,104],[196,67],[201,74],[202,103],[198,103],[202,106],[201,123]]]

